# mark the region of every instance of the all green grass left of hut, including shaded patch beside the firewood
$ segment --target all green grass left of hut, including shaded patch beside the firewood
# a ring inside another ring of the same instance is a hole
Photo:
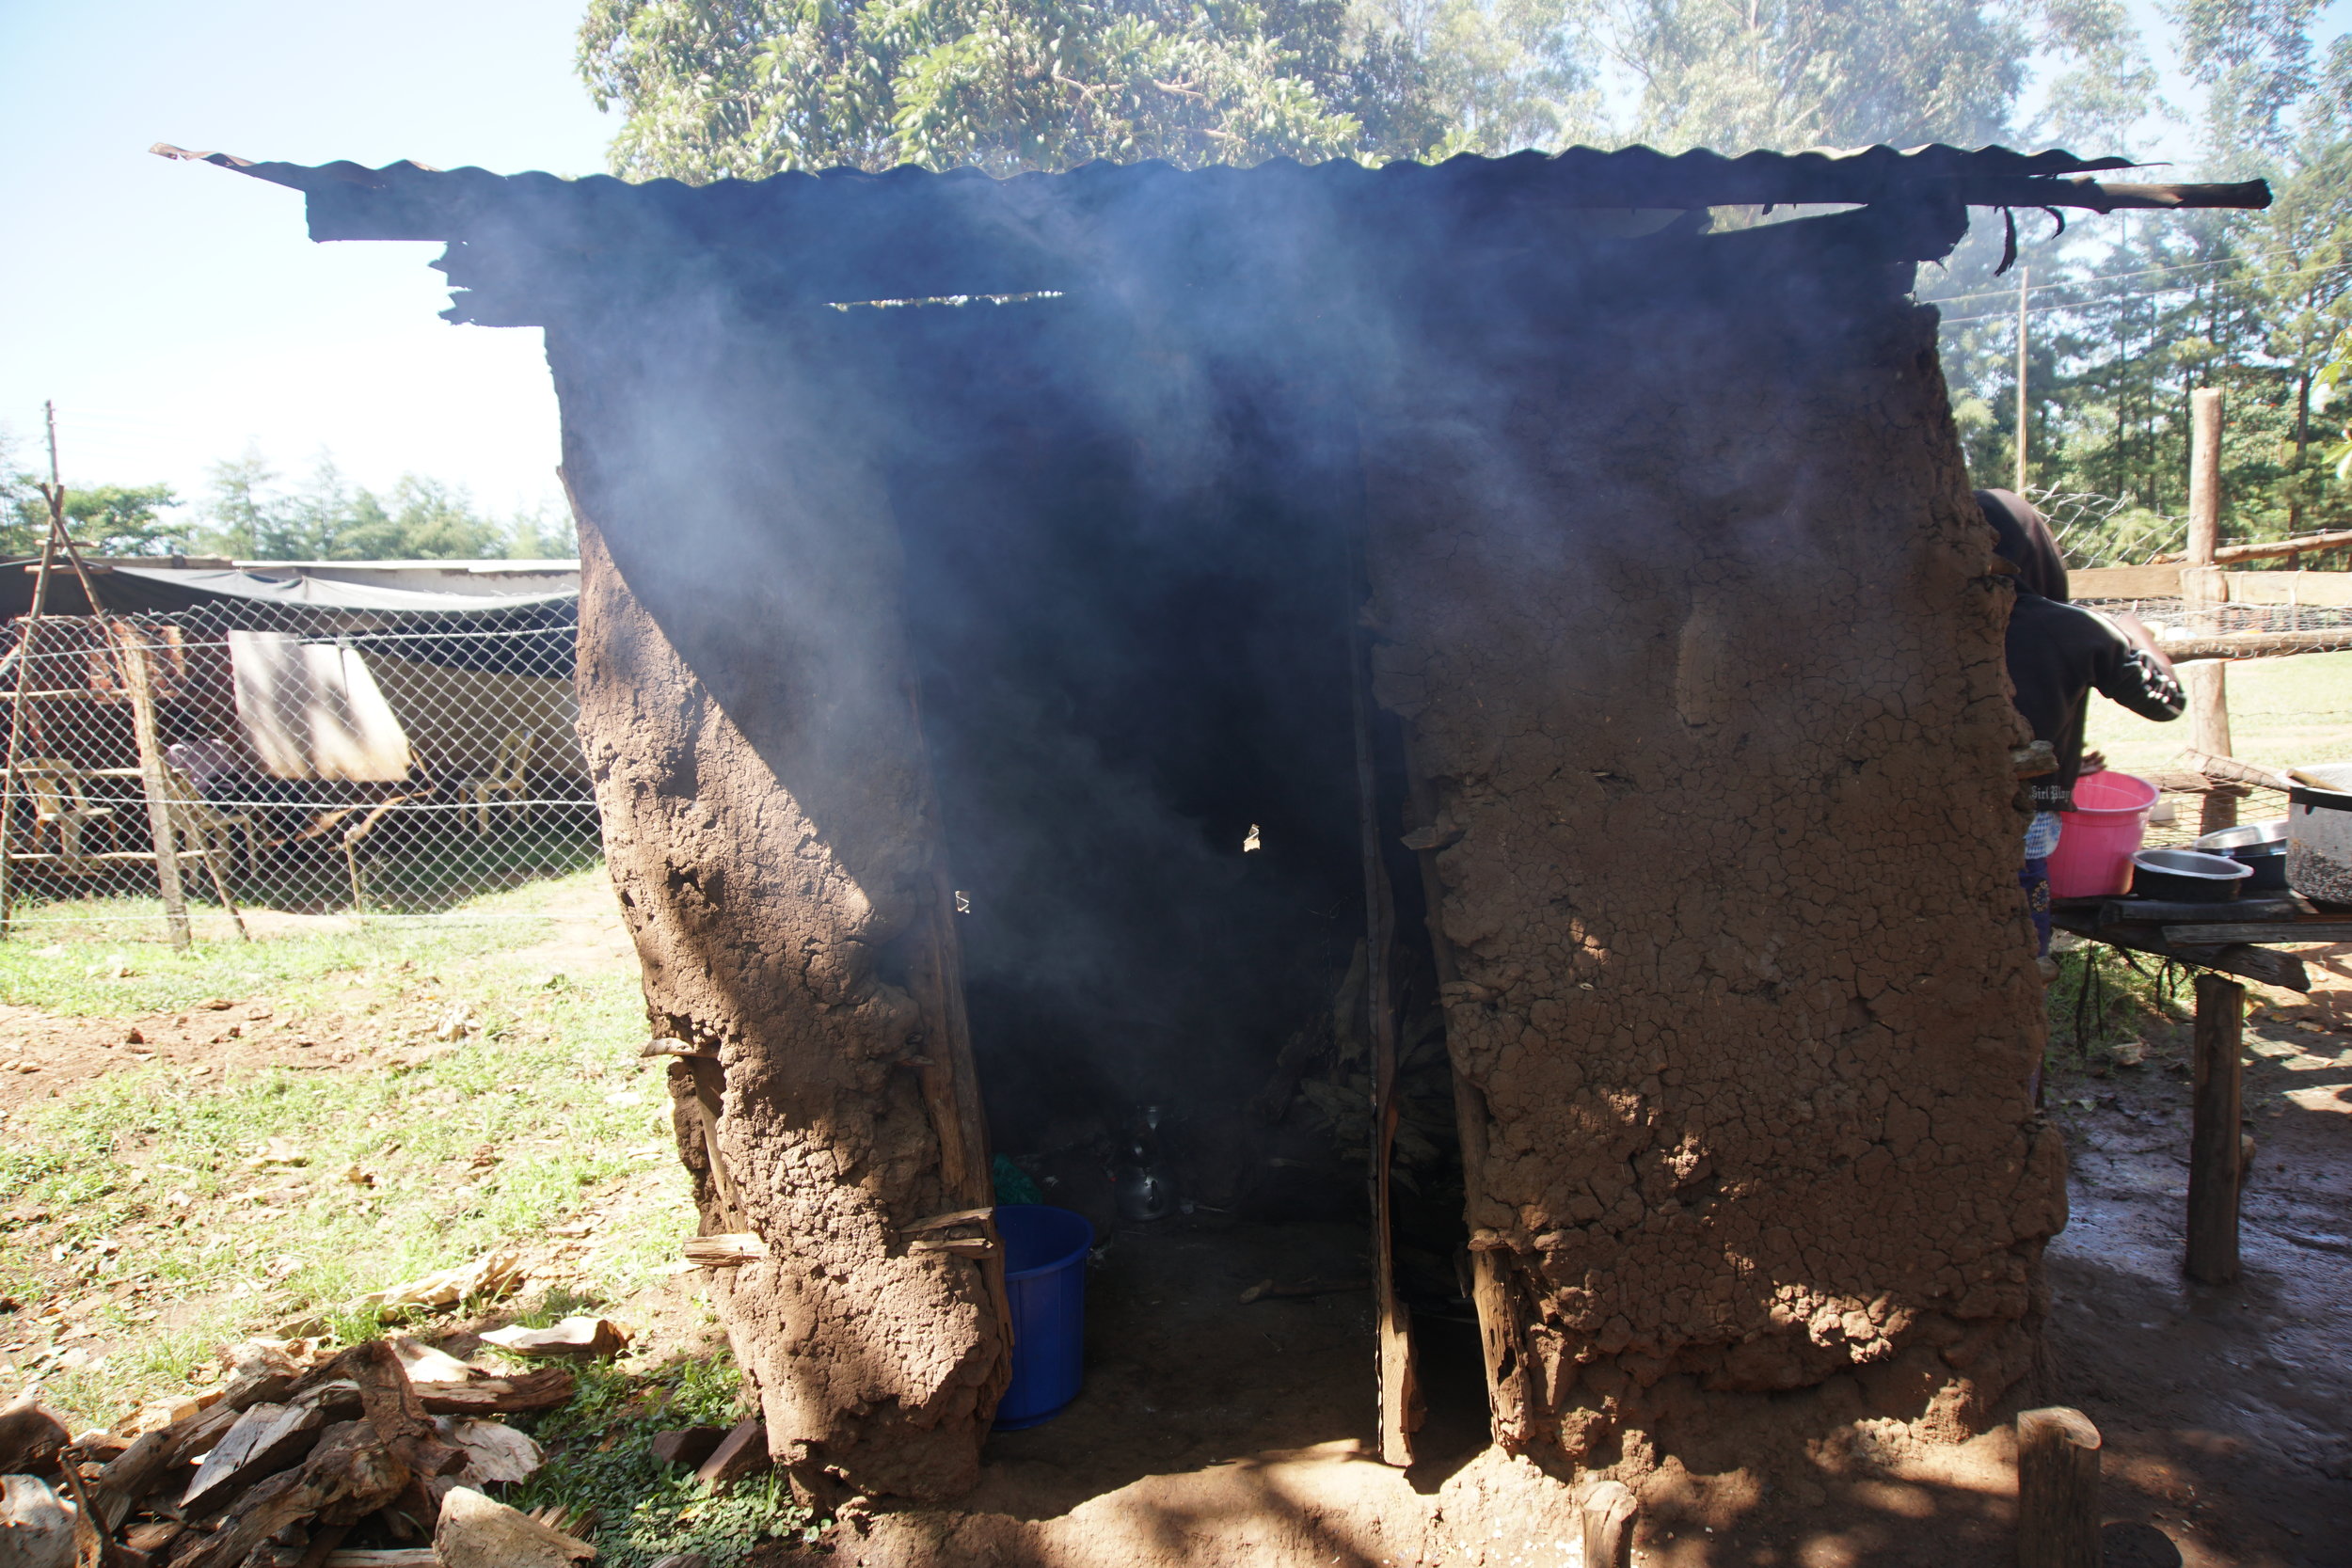
[[[0,1356],[40,1375],[73,1425],[111,1425],[214,1380],[223,1347],[256,1331],[325,1328],[350,1345],[496,1307],[539,1326],[654,1284],[694,1206],[663,1067],[637,1058],[635,964],[548,940],[609,910],[602,877],[475,898],[454,922],[278,917],[256,922],[252,943],[200,917],[188,952],[165,945],[151,898],[38,910],[49,919],[0,943],[0,1001],[92,1023],[266,1001],[249,1041],[334,1034],[348,1056],[252,1070],[125,1060],[14,1112],[0,1140],[0,1293],[16,1309],[0,1312]],[[270,1140],[301,1164],[266,1161]],[[604,1218],[586,1237],[555,1239],[590,1208]],[[539,1265],[517,1300],[416,1316],[358,1305],[503,1246]],[[56,1371],[42,1352],[66,1347],[68,1328],[99,1331],[75,1342],[106,1356]],[[760,1542],[816,1540],[779,1474],[710,1490],[652,1460],[654,1432],[731,1425],[741,1401],[724,1349],[640,1342],[583,1368],[564,1408],[517,1420],[548,1460],[508,1495],[593,1514],[581,1528],[604,1568],[673,1552],[727,1568]]]

